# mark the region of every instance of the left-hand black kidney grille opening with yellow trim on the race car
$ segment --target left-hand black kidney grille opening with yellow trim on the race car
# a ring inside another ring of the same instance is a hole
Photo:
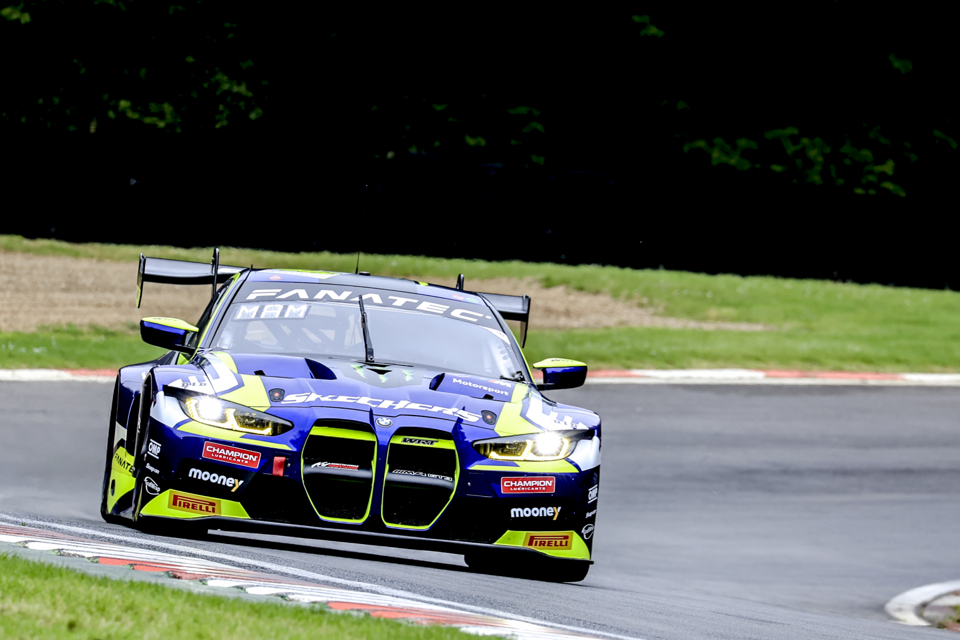
[[[303,445],[303,486],[326,520],[367,519],[375,467],[376,436],[365,422],[317,420]]]

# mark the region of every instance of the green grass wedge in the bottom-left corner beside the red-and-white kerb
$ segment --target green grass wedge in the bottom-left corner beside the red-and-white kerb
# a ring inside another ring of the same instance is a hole
[[[0,555],[0,637],[394,638],[467,640],[459,630],[330,613],[321,606],[251,603],[202,596],[149,582],[94,578],[62,567]]]

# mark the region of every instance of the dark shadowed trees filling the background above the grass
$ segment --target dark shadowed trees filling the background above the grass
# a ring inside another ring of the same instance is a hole
[[[25,3],[29,24],[0,22],[17,69],[0,99],[4,232],[960,287],[957,151],[932,134],[960,137],[952,13],[844,1],[182,7],[45,0]],[[642,36],[640,12],[665,35]],[[252,96],[202,86],[214,68]],[[60,111],[37,107],[58,90]],[[142,114],[169,101],[180,122],[145,125],[118,98]],[[238,115],[215,129],[220,105]],[[531,122],[542,131],[524,132]],[[794,143],[830,147],[823,183],[807,181],[803,150],[764,138],[786,127]],[[756,142],[750,168],[684,153],[717,136]],[[844,165],[846,141],[876,165],[893,159],[894,175]],[[861,182],[872,174],[906,197]]]

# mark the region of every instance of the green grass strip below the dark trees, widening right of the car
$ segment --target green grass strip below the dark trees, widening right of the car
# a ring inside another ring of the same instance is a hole
[[[157,257],[204,262],[210,254],[210,249],[74,245],[19,236],[0,236],[0,249],[129,261],[134,261],[141,250]],[[353,270],[355,259],[355,254],[326,251],[222,252],[225,264],[347,272]],[[960,370],[960,351],[955,346],[960,338],[956,320],[960,318],[960,294],[951,291],[771,276],[404,255],[364,255],[361,266],[382,275],[427,279],[466,273],[468,288],[470,280],[477,278],[533,277],[547,287],[563,284],[589,293],[606,292],[636,300],[666,316],[760,322],[779,329],[760,333],[659,328],[539,331],[534,326],[528,343],[531,362],[545,356],[564,356],[585,360],[592,367]]]

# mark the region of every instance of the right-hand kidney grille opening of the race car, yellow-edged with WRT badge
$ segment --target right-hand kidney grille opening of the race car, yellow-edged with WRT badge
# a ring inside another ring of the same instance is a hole
[[[453,497],[457,450],[449,434],[426,430],[390,439],[383,479],[383,521],[390,526],[427,529]]]

